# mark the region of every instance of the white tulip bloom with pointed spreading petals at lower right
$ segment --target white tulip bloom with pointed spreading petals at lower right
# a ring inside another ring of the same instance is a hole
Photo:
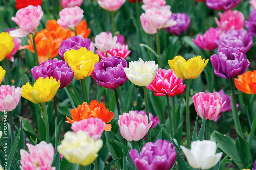
[[[180,146],[180,148],[193,168],[210,169],[219,162],[222,156],[222,152],[216,153],[217,144],[210,140],[193,141],[191,150],[184,146]]]

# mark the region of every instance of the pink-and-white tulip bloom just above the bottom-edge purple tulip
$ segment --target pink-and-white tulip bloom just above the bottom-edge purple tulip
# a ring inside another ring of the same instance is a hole
[[[135,111],[119,115],[118,120],[120,133],[127,141],[138,141],[142,139],[152,123],[148,123],[147,115],[143,116]]]

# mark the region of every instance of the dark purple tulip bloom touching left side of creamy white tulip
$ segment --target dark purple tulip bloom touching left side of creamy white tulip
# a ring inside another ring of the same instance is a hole
[[[118,56],[103,58],[94,64],[91,76],[102,87],[116,89],[128,79],[123,70],[127,65],[127,61]]]

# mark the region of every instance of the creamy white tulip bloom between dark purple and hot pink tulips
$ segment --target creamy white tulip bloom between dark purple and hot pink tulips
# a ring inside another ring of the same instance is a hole
[[[141,58],[139,61],[129,62],[129,68],[124,68],[128,79],[137,86],[148,86],[156,76],[158,64],[155,61],[144,62]]]

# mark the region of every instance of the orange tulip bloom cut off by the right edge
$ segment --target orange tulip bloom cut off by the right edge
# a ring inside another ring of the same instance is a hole
[[[234,79],[234,82],[240,91],[246,94],[256,94],[256,70],[239,75],[238,79]]]

